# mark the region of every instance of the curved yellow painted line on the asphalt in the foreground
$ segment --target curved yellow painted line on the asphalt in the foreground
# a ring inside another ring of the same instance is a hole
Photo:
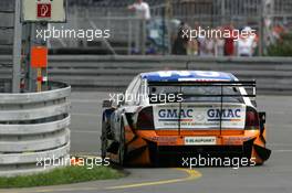
[[[39,190],[28,190],[28,191],[7,191],[6,193],[51,193],[51,192],[75,192],[75,191],[111,191],[111,190],[125,190],[125,189],[134,189],[142,186],[153,186],[153,185],[166,185],[186,181],[197,180],[202,176],[202,174],[196,170],[189,169],[173,169],[182,171],[187,174],[185,178],[179,179],[170,179],[170,180],[160,180],[155,182],[142,182],[142,183],[133,183],[127,185],[117,185],[117,186],[107,186],[107,187],[74,187],[74,189],[39,189]],[[98,181],[97,181],[98,182]]]

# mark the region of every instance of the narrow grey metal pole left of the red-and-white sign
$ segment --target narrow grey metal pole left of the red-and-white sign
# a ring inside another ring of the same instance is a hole
[[[22,24],[20,22],[20,9],[21,9],[21,0],[15,0],[12,93],[20,93],[21,43],[22,43],[21,42],[21,40],[22,40]]]

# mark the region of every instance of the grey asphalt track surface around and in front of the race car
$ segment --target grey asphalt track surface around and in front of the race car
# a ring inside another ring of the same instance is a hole
[[[72,94],[72,153],[100,154],[101,105],[108,93]],[[0,190],[3,193],[292,193],[292,97],[258,96],[268,116],[268,143],[273,150],[264,165],[240,168],[126,169],[121,180],[61,186]]]

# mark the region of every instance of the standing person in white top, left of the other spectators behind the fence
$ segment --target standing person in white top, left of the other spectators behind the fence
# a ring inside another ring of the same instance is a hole
[[[135,33],[135,53],[145,54],[146,46],[146,24],[150,20],[150,8],[147,2],[136,0],[134,4],[127,7],[135,11],[134,33]]]

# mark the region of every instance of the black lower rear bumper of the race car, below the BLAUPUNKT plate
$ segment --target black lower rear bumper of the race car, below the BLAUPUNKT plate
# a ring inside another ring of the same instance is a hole
[[[153,163],[181,164],[184,160],[221,159],[243,160],[244,162],[262,163],[270,157],[270,150],[253,143],[254,139],[243,142],[242,146],[157,146],[149,142],[149,157]],[[222,167],[222,165],[218,165]]]

